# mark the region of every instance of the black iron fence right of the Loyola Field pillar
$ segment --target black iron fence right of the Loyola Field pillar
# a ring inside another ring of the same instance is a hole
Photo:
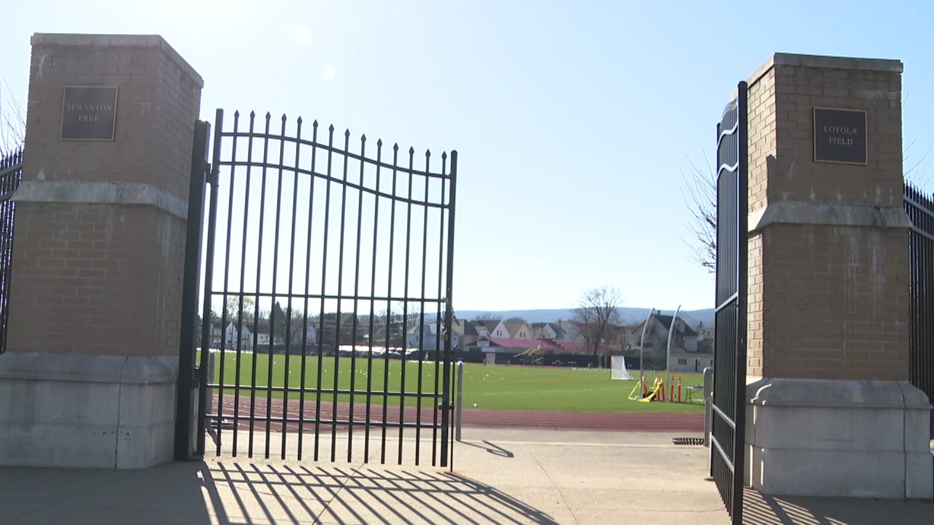
[[[911,310],[908,374],[912,384],[934,399],[934,200],[905,184],[909,234]],[[934,413],[931,414],[934,438]]]

